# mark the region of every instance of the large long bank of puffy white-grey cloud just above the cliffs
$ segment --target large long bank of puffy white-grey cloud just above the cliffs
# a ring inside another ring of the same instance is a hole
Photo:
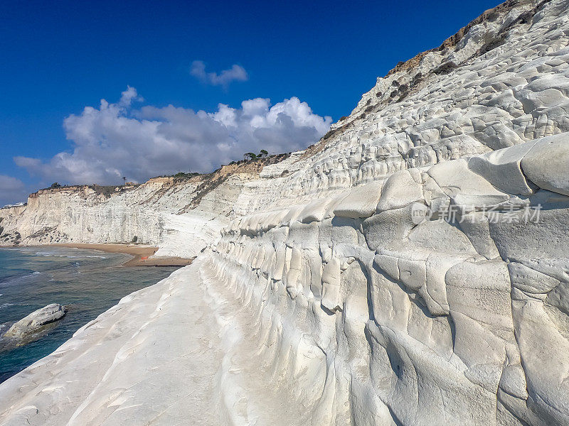
[[[270,99],[249,99],[239,108],[219,104],[216,111],[167,107],[134,107],[142,98],[134,87],[119,102],[105,99],[85,107],[64,122],[70,151],[49,160],[16,157],[14,161],[43,183],[143,182],[179,171],[210,172],[240,160],[243,153],[297,151],[328,131],[331,118],[312,112],[297,97],[272,105]]]

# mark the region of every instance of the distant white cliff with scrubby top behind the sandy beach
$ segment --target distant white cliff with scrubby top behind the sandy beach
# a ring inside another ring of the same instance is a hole
[[[157,256],[196,256],[216,238],[250,170],[187,181],[156,178],[137,187],[63,187],[30,195],[26,207],[0,209],[0,246],[58,243],[138,243]],[[212,178],[212,177],[211,177]],[[211,186],[211,187],[210,187]],[[205,188],[204,188],[205,187]]]

